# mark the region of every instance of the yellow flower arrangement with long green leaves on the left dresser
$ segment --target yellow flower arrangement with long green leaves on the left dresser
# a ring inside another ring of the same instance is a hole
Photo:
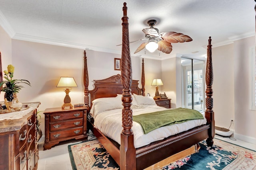
[[[30,85],[30,82],[28,80],[16,80],[12,79],[14,73],[14,66],[12,64],[9,64],[7,66],[7,70],[4,70],[4,78],[6,80],[0,82],[0,87],[2,87],[1,91],[5,92],[4,98],[7,99],[7,101],[12,101],[14,98],[14,94],[18,93],[21,88],[24,86],[19,85],[20,83],[25,83]]]

